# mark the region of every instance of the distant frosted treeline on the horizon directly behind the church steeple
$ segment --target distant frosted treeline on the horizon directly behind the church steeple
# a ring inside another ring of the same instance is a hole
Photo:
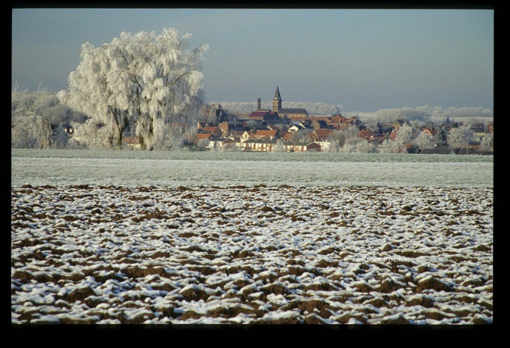
[[[233,101],[211,101],[209,104],[220,104],[223,106],[223,109],[226,109],[230,112],[238,112],[238,113],[250,113],[252,111],[257,111],[257,102],[233,102]],[[272,102],[263,102],[261,103],[262,109],[272,109]],[[284,109],[298,109],[302,108],[308,111],[310,114],[315,115],[331,115],[338,114],[342,112],[342,105],[332,105],[328,103],[314,103],[310,101],[284,101],[282,102],[282,108]]]

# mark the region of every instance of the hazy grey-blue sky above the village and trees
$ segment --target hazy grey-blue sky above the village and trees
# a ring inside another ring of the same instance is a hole
[[[270,101],[278,84],[345,111],[493,109],[493,10],[13,9],[12,85],[67,89],[84,42],[163,28],[210,45],[208,101]]]

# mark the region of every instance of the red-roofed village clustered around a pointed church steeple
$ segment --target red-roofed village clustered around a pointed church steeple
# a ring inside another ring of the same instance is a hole
[[[484,137],[493,137],[493,122],[470,124],[466,127],[469,139],[458,145],[450,142],[453,144],[450,146],[448,138],[452,129],[464,127],[464,122],[455,122],[449,118],[441,124],[396,119],[390,123],[376,123],[374,126],[365,124],[356,116],[311,116],[304,109],[282,108],[278,87],[272,110],[261,109],[261,99],[258,98],[257,111],[247,115],[229,113],[221,105],[213,104],[202,110],[202,117],[209,122],[198,122],[192,142],[197,148],[205,150],[480,155],[490,155],[494,151],[492,144],[483,145]],[[412,133],[399,139],[399,130],[404,125],[411,127]]]

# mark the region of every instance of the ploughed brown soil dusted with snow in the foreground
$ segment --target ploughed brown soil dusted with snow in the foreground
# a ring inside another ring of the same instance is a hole
[[[13,323],[490,323],[491,188],[12,190]]]

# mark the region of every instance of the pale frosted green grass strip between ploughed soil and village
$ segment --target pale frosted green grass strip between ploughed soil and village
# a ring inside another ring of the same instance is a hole
[[[31,184],[493,185],[493,157],[13,149],[13,186]]]

